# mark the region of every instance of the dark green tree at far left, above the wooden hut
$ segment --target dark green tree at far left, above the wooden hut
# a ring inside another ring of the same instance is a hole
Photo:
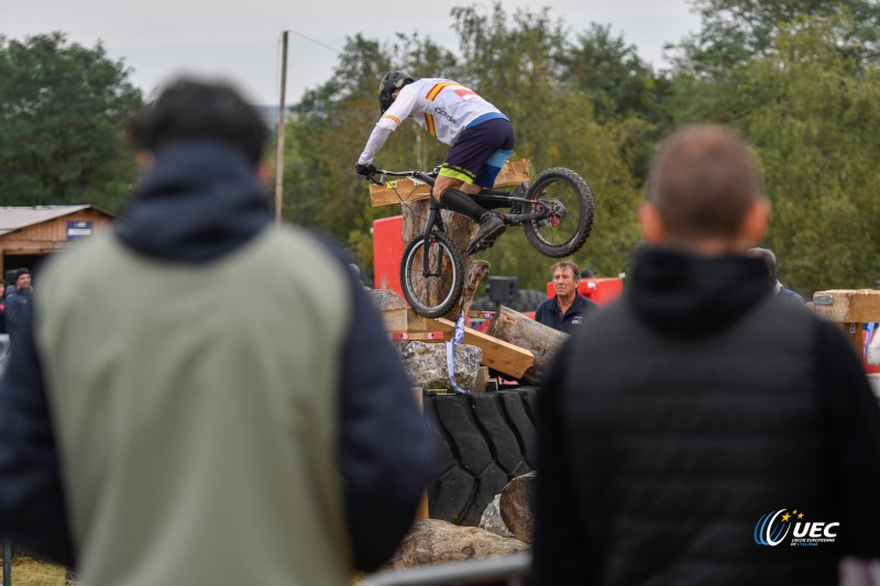
[[[0,36],[0,192],[12,204],[116,210],[135,177],[123,123],[143,104],[124,64],[61,32]]]

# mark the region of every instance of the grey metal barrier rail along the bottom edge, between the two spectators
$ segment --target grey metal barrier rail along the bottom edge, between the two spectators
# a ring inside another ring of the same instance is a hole
[[[525,586],[530,566],[531,554],[515,553],[380,572],[361,582],[360,586]]]

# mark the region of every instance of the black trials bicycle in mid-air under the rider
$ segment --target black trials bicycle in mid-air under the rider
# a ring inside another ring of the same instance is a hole
[[[393,185],[386,183],[388,177],[406,177],[416,184],[433,186],[439,170],[440,167],[431,172],[376,169],[367,180]],[[530,184],[520,184],[512,190],[483,189],[473,198],[486,209],[509,209],[501,213],[504,223],[521,225],[532,247],[547,256],[574,254],[593,230],[595,212],[590,187],[583,177],[565,167],[549,168]],[[440,214],[444,208],[432,197],[429,201],[424,233],[404,247],[400,287],[416,313],[439,318],[449,313],[461,297],[464,253],[447,234]],[[480,250],[492,244],[488,242]]]

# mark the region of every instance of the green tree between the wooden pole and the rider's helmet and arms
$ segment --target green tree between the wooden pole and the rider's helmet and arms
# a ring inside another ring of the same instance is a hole
[[[378,120],[378,81],[393,69],[417,77],[444,75],[454,63],[450,52],[418,35],[398,35],[389,45],[361,35],[350,38],[330,80],[293,108],[284,161],[285,218],[332,233],[371,273],[372,223],[399,213],[396,207],[372,208],[369,185],[353,170]],[[382,165],[430,168],[442,157],[441,147],[415,124],[405,124],[383,148]]]

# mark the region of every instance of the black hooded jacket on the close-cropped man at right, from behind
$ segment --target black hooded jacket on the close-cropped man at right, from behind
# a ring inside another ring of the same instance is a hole
[[[540,395],[537,584],[827,585],[880,555],[880,410],[846,340],[759,259],[645,248],[631,274]],[[837,538],[792,546],[799,513]]]

